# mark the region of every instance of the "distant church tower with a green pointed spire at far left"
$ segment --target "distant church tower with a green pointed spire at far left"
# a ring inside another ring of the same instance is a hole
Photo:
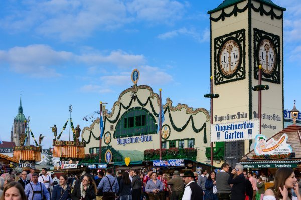
[[[22,100],[20,94],[20,106],[18,108],[18,114],[14,118],[14,129],[11,133],[11,141],[15,142],[16,146],[20,146],[20,137],[22,134],[25,134],[26,130],[26,117],[23,114]],[[29,140],[24,145],[29,145]]]

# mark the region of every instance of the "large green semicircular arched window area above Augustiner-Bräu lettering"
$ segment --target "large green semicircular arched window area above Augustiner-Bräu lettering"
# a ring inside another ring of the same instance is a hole
[[[114,138],[154,134],[157,124],[154,116],[143,107],[133,107],[124,113],[114,132]]]

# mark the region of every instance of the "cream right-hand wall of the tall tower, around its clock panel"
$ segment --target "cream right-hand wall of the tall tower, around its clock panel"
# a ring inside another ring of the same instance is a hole
[[[254,6],[258,8],[260,4],[258,2],[252,1]],[[269,6],[264,6],[266,11],[270,11]],[[274,9],[277,16],[281,15],[281,11]],[[262,119],[262,125],[271,125],[275,128],[265,128],[262,127],[262,134],[266,135],[268,138],[276,134],[283,129],[283,92],[282,92],[282,19],[271,19],[270,16],[261,16],[260,13],[252,12],[252,39],[253,39],[253,28],[263,30],[268,33],[278,35],[280,37],[280,84],[275,84],[271,82],[262,81],[261,84],[269,85],[269,90],[261,92],[262,96],[262,114],[266,113],[268,115],[274,115],[281,118],[280,121]],[[253,44],[253,40],[252,40]],[[253,47],[252,47],[253,53]],[[254,61],[252,60],[252,63]],[[253,65],[253,64],[252,64]],[[258,85],[258,80],[254,79],[254,71],[252,70],[252,86]],[[252,92],[252,118],[254,118],[254,112],[258,114],[258,92]]]

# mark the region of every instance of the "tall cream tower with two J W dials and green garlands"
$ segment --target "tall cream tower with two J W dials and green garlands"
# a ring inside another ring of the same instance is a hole
[[[213,101],[213,124],[258,118],[258,91],[252,87],[262,65],[262,84],[269,90],[262,91],[261,133],[269,138],[283,129],[284,11],[271,0],[224,0],[208,11],[210,73],[220,95]],[[234,146],[238,154],[228,157],[249,152],[251,142],[226,143],[225,159]]]

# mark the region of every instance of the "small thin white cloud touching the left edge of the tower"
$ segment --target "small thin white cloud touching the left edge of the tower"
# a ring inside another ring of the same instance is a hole
[[[200,43],[209,41],[209,39],[210,39],[210,31],[208,28],[203,30],[202,33],[200,33],[200,31],[193,29],[193,28],[191,28],[191,29],[180,28],[178,30],[173,30],[170,32],[160,34],[160,35],[158,35],[158,38],[164,40],[164,39],[171,39],[171,38],[174,38],[174,37],[180,36],[180,35],[192,37],[194,40],[196,40],[197,42],[200,42]]]

